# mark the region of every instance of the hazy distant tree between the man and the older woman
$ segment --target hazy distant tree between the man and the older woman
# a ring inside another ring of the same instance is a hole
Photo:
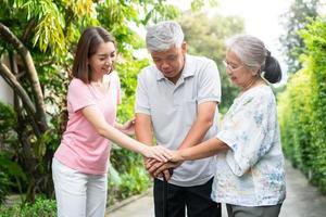
[[[230,36],[243,31],[243,21],[236,16],[215,14],[208,17],[204,12],[186,12],[179,22],[185,31],[189,53],[208,56],[216,62],[222,80],[221,110],[226,112],[237,94],[237,88],[230,84],[223,65],[225,43]]]

